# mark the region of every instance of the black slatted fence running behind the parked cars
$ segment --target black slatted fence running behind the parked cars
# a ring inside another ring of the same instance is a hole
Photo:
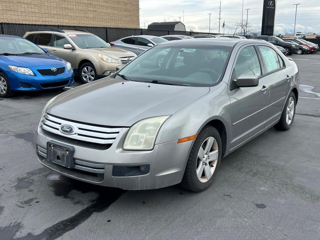
[[[120,38],[132,35],[192,35],[192,34],[208,34],[202,32],[185,32],[185,31],[171,31],[171,30],[153,30],[142,28],[109,28],[109,27],[86,27],[86,26],[65,26],[65,25],[44,25],[44,24],[25,24],[25,23],[5,23],[2,22],[0,34],[23,36],[28,30],[32,28],[76,28],[84,29],[101,37],[106,42],[110,43]],[[215,34],[215,33],[210,33]]]

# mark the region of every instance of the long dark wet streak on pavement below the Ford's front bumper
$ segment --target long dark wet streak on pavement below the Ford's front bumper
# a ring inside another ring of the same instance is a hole
[[[40,234],[33,235],[28,233],[26,236],[16,238],[15,240],[41,240],[41,239],[56,239],[66,232],[76,228],[85,220],[87,220],[94,212],[103,212],[114,203],[126,191],[119,188],[108,188],[97,185],[92,185],[80,182],[73,179],[66,179],[63,182],[52,184],[53,192],[56,196],[70,198],[68,195],[72,190],[77,190],[82,193],[94,192],[99,196],[92,200],[92,203],[85,207],[75,215],[61,220],[60,222],[44,229]]]

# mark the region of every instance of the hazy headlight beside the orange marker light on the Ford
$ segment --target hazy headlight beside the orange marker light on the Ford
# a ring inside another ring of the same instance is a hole
[[[133,124],[125,137],[123,149],[151,150],[155,145],[160,127],[168,117],[150,117]]]

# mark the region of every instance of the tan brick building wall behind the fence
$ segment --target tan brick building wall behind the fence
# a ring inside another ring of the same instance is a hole
[[[139,0],[0,0],[0,22],[139,28]]]

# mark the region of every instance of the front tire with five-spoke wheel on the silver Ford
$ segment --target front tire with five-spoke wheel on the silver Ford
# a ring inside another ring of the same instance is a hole
[[[210,142],[213,144],[209,150],[211,154],[208,154],[205,153],[205,148],[210,146]],[[219,132],[214,127],[205,125],[192,146],[180,186],[193,192],[201,192],[209,188],[219,170],[221,153]]]

